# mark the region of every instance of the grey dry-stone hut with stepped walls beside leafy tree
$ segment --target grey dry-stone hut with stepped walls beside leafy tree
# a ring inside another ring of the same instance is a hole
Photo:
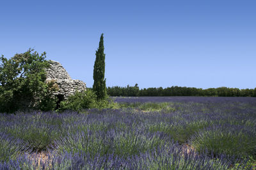
[[[59,90],[54,93],[55,96],[62,96],[64,99],[67,99],[76,90],[79,92],[86,90],[86,83],[81,80],[72,80],[60,62],[54,60],[50,60],[49,62],[51,67],[46,69],[46,81],[54,80],[58,84]]]

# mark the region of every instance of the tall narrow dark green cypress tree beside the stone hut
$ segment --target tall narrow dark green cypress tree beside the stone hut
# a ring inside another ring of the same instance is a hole
[[[106,78],[105,74],[105,53],[103,44],[103,34],[100,36],[99,48],[96,51],[96,59],[93,67],[93,91],[96,93],[97,100],[105,99],[106,93]]]

